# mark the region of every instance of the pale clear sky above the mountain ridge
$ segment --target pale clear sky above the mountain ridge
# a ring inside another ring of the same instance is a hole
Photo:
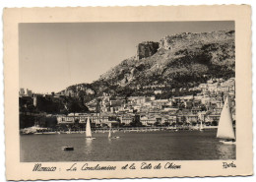
[[[213,30],[234,30],[234,23],[23,23],[19,25],[20,88],[46,93],[92,83],[136,55],[142,41]]]

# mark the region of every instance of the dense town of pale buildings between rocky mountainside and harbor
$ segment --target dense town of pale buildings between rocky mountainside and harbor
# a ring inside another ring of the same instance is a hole
[[[179,91],[182,90],[179,89]],[[113,126],[116,127],[197,126],[201,121],[206,126],[217,126],[225,96],[229,96],[231,113],[235,121],[234,78],[226,81],[224,79],[211,79],[190,90],[198,91],[198,93],[171,96],[165,99],[157,98],[159,92],[152,96],[129,97],[103,93],[102,96],[87,102],[85,104],[87,108],[83,110],[79,104],[68,105],[65,103],[66,97],[72,99],[70,96],[55,94],[54,92],[38,94],[21,89],[20,100],[23,100],[20,101],[21,117],[32,118],[30,123],[22,123],[21,127],[29,127],[36,123],[41,127],[53,129],[61,126],[64,127],[63,129],[67,129],[68,125],[68,127],[79,130],[85,127],[88,118],[90,118],[92,126],[97,128],[107,127],[111,121],[115,121]],[[45,100],[49,102],[48,106],[52,107],[50,110],[56,110],[56,113],[38,110],[43,110],[40,105],[45,105]],[[61,106],[63,109],[58,110]]]

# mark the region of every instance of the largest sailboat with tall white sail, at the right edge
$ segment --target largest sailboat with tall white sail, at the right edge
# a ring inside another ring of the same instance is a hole
[[[224,100],[224,107],[219,121],[217,138],[224,139],[224,141],[220,141],[221,143],[235,144],[235,136],[232,126],[228,96]]]

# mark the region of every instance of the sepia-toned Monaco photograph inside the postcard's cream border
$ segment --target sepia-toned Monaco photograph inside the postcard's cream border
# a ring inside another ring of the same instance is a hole
[[[19,24],[20,161],[236,159],[234,25]]]

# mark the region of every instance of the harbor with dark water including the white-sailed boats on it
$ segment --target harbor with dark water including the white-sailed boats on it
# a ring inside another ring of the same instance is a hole
[[[215,126],[123,127],[49,131],[33,126],[20,137],[21,161],[121,161],[235,159],[235,132],[228,97]],[[29,135],[30,134],[30,135]],[[69,134],[69,135],[49,135]],[[220,139],[222,139],[220,141]],[[37,146],[39,144],[39,146]],[[125,151],[123,151],[125,149]],[[50,151],[49,151],[50,150]],[[103,152],[102,152],[103,151]],[[47,153],[47,155],[45,155]],[[49,154],[50,153],[50,154]]]

